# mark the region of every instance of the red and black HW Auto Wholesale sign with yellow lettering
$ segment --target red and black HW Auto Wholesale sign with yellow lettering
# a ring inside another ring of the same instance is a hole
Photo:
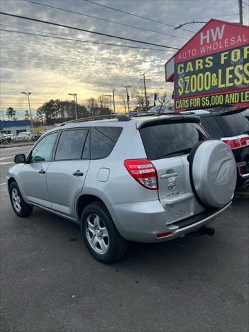
[[[248,42],[248,26],[216,19],[205,24],[165,64],[166,81],[174,80],[175,110],[248,106]]]

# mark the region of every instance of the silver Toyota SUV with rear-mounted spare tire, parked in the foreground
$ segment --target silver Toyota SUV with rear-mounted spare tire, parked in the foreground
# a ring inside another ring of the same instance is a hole
[[[110,116],[48,131],[7,175],[12,208],[33,206],[80,225],[91,255],[110,263],[127,241],[160,242],[202,228],[228,208],[232,151],[196,116]]]

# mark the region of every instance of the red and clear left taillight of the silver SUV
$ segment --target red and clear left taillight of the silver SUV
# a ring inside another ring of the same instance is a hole
[[[150,190],[158,189],[156,168],[148,159],[127,159],[124,166],[131,176],[143,187]]]

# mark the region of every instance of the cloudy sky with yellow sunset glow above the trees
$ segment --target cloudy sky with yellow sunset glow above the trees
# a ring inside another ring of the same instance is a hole
[[[233,22],[239,21],[237,0],[33,1],[78,13],[41,6],[24,0],[1,0],[1,12],[173,48],[181,48],[187,39],[203,26],[203,24],[189,24],[185,28],[191,31],[174,30],[174,26],[180,23],[192,19],[208,21],[210,17]],[[245,0],[245,2],[249,3],[249,0]],[[249,6],[246,3],[243,5],[244,24],[248,24],[249,17]],[[4,15],[0,15],[0,19],[0,110],[3,111],[0,118],[8,107],[19,110],[19,116],[24,113],[28,105],[26,96],[21,95],[21,91],[32,92],[30,100],[35,113],[35,110],[47,100],[56,98],[70,100],[68,93],[77,93],[78,102],[84,103],[87,98],[110,94],[112,89],[115,89],[118,111],[122,111],[122,94],[124,93],[122,86],[130,85],[132,89],[139,88],[142,86],[142,81],[140,81],[142,73],[146,73],[146,77],[150,79],[147,81],[149,93],[167,91],[171,95],[172,86],[170,83],[165,83],[164,64],[175,50]],[[105,20],[115,21],[119,24]],[[66,40],[65,37],[80,40]],[[91,44],[85,41],[103,44]],[[141,48],[108,46],[104,43]],[[131,104],[135,104],[135,100],[131,100]]]

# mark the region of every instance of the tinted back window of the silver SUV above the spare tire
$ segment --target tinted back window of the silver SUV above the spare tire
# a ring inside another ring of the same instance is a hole
[[[145,127],[140,134],[149,160],[187,154],[197,142],[207,140],[201,126],[186,122]]]

